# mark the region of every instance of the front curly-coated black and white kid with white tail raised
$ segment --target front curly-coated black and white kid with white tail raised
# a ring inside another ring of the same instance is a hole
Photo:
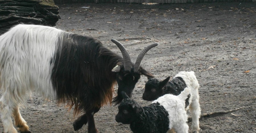
[[[152,104],[141,107],[135,100],[123,92],[123,101],[118,106],[116,122],[130,124],[135,133],[187,133],[187,113],[185,99],[190,93],[186,87],[180,95],[166,94],[154,100]]]

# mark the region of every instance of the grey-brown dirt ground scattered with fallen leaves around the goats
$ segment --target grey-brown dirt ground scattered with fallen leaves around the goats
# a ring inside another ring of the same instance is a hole
[[[110,39],[119,40],[133,61],[145,46],[157,42],[141,65],[160,80],[194,71],[202,113],[239,108],[200,119],[200,132],[256,132],[256,3],[58,6],[58,28],[95,37],[118,53]],[[132,96],[142,106],[151,103],[142,99],[146,81],[142,76]],[[99,132],[131,132],[129,125],[115,122],[117,111],[117,106],[106,105],[94,115]],[[73,110],[54,100],[43,102],[36,93],[20,112],[34,133],[87,132],[87,125],[73,130]]]

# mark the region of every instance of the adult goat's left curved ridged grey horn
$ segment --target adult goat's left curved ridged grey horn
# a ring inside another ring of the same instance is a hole
[[[123,55],[123,67],[125,71],[131,72],[131,58],[127,50],[123,47],[123,45],[115,39],[111,39],[111,41],[120,49]]]

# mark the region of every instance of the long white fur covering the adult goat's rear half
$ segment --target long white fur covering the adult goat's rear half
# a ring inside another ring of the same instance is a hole
[[[20,24],[0,37],[0,85],[5,98],[14,103],[10,106],[25,104],[27,95],[34,90],[45,98],[54,98],[50,62],[56,50],[61,50],[58,42],[63,39],[62,33],[53,27]]]

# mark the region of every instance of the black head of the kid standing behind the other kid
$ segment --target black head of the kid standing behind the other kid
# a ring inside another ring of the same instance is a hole
[[[163,96],[164,86],[166,86],[169,80],[170,76],[163,81],[159,81],[156,78],[150,78],[145,85],[145,91],[142,96],[143,100],[152,101],[156,100],[160,96]]]

